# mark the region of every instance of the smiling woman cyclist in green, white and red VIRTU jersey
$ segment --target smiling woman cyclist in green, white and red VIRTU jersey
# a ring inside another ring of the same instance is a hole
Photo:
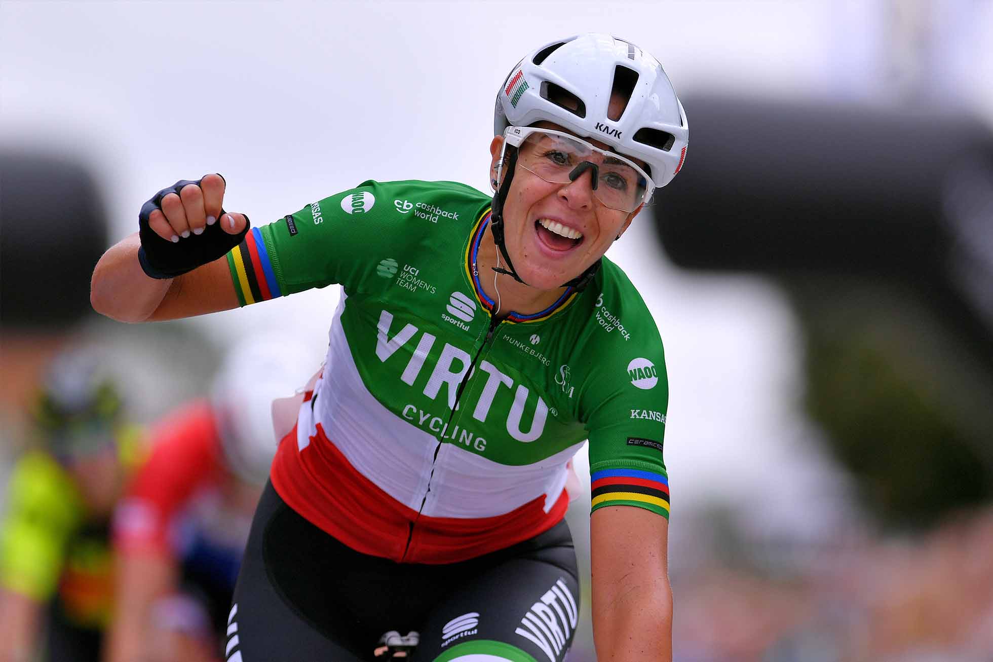
[[[687,132],[654,58],[580,35],[500,85],[492,197],[366,181],[250,228],[208,175],[145,204],[94,271],[105,315],[343,285],[255,514],[227,660],[362,660],[409,630],[414,660],[560,662],[579,595],[567,463],[587,438],[598,656],[671,658],[662,344],[604,253]]]

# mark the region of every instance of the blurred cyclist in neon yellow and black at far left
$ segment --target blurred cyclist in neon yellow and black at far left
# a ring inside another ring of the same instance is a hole
[[[99,659],[112,598],[110,515],[140,457],[114,382],[60,355],[31,408],[35,448],[16,463],[0,523],[0,659]]]

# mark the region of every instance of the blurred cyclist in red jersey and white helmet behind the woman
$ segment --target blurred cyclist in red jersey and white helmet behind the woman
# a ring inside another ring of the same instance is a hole
[[[311,359],[280,338],[244,341],[226,356],[210,400],[189,403],[153,428],[151,456],[114,517],[117,600],[105,659],[220,658],[276,450],[273,400],[304,386],[320,363]]]

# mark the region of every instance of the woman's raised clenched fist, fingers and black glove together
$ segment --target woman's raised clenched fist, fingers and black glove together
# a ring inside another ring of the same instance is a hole
[[[248,232],[248,217],[224,212],[220,175],[180,180],[162,189],[138,214],[138,261],[153,278],[172,278],[223,256]]]

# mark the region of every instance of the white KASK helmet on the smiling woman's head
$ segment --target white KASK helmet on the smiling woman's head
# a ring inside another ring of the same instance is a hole
[[[607,111],[615,92],[628,103],[620,117],[611,119]],[[497,91],[494,132],[502,135],[507,126],[539,120],[641,159],[656,188],[672,181],[686,157],[686,113],[662,66],[612,35],[554,41],[510,71]]]

